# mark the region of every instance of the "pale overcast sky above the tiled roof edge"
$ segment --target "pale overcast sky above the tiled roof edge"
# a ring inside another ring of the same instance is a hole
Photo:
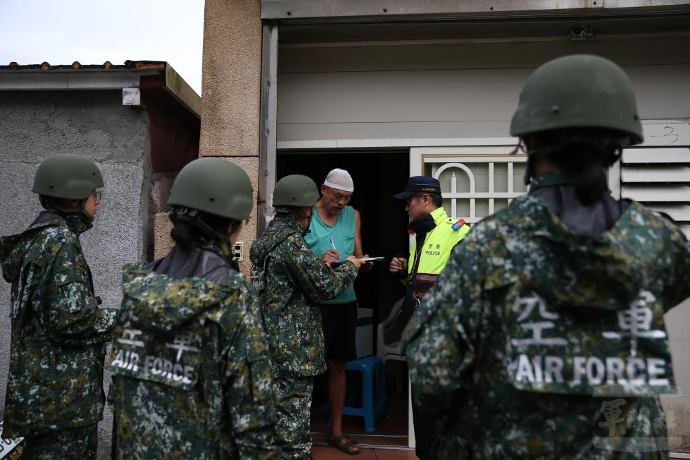
[[[204,0],[0,0],[0,66],[168,61],[201,94]]]

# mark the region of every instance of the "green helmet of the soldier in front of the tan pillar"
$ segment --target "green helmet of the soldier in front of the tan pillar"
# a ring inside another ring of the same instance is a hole
[[[168,206],[242,221],[252,211],[253,196],[252,183],[242,168],[220,158],[200,158],[177,174]]]

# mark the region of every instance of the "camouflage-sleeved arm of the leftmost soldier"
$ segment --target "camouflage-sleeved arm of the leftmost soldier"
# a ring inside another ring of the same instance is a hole
[[[112,337],[114,308],[98,308],[88,285],[88,275],[75,270],[77,249],[65,243],[44,274],[32,303],[41,305],[37,315],[46,335],[64,343],[102,343]]]

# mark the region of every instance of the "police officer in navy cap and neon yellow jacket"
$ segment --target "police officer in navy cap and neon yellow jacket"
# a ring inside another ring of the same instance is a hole
[[[402,257],[394,257],[388,268],[406,283],[402,316],[407,322],[446,266],[453,248],[470,228],[462,219],[458,221],[448,217],[443,208],[441,184],[433,177],[411,177],[405,190],[393,197],[407,201],[408,230],[415,235],[410,250],[411,263]],[[424,417],[414,401],[412,410],[417,457],[433,459],[435,452],[431,446],[444,423],[440,419]]]

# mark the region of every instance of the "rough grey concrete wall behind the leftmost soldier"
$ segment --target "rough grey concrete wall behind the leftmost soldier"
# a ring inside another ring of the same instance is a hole
[[[96,161],[105,187],[95,226],[81,237],[103,306],[119,307],[121,268],[146,253],[150,139],[148,116],[121,105],[119,91],[0,92],[0,234],[24,230],[41,210],[31,190],[51,154]],[[0,282],[0,410],[4,406],[10,286]],[[109,376],[106,376],[109,381]],[[108,383],[106,382],[106,390]],[[110,454],[112,418],[99,427],[99,459]]]

